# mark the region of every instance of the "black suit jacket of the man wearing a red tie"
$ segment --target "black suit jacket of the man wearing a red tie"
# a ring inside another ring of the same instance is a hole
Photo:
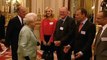
[[[91,45],[93,43],[96,26],[92,24],[89,20],[85,22],[80,32],[78,32],[79,24],[77,24],[77,31],[74,41],[74,52],[77,53],[82,51],[84,57],[91,57],[92,49]]]

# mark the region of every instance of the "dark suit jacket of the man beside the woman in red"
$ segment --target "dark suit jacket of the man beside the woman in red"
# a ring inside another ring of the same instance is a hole
[[[66,20],[62,22],[58,20],[56,23],[56,29],[54,32],[54,41],[61,41],[61,45],[68,45],[74,38],[75,21],[71,17],[67,16]],[[60,28],[63,27],[63,30]]]

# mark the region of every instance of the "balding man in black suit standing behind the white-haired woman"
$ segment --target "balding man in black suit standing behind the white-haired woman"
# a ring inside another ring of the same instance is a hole
[[[26,8],[19,6],[17,9],[18,15],[12,18],[7,26],[6,30],[6,46],[11,45],[12,49],[12,60],[18,60],[17,58],[17,48],[18,48],[18,37],[19,32],[23,26],[23,18],[26,14]]]

